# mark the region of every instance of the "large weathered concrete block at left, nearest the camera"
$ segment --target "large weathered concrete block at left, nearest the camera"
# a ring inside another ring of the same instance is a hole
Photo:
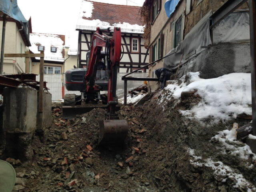
[[[4,88],[3,128],[8,133],[36,130],[37,91],[30,87]]]

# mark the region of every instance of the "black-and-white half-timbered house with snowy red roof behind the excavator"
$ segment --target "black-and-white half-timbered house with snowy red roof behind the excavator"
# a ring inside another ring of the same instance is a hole
[[[86,53],[97,27],[120,27],[123,56],[118,72],[132,72],[148,64],[148,49],[144,48],[144,26],[140,7],[82,1],[76,30],[78,35],[78,67],[86,67]],[[106,33],[111,36],[111,33]],[[146,72],[146,69],[139,72]]]

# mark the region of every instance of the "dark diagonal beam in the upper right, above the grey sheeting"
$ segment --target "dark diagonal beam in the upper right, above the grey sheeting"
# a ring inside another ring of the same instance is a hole
[[[210,19],[212,20],[212,24],[210,25],[210,29],[214,28],[218,23],[221,22],[226,16],[244,4],[247,0],[228,0],[224,3],[212,16]]]

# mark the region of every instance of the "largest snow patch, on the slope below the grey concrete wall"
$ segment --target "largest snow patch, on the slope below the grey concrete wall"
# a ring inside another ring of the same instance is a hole
[[[236,118],[238,114],[252,114],[251,76],[248,73],[231,73],[213,79],[199,78],[199,72],[188,73],[190,84],[186,84],[185,76],[182,84],[168,85],[169,92],[164,98],[180,99],[182,92],[195,91],[201,101],[190,110],[180,111],[184,116],[204,120],[214,119],[214,122]],[[170,94],[171,92],[171,94]],[[164,102],[164,100],[162,100]]]

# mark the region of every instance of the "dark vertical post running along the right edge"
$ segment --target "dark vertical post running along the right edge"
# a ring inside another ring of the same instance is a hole
[[[252,134],[256,135],[256,0],[249,0],[252,78]]]

